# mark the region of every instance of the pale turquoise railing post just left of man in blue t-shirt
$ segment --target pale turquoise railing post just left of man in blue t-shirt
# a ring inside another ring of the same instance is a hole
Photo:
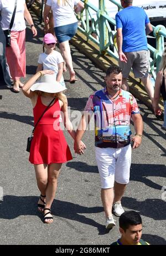
[[[98,0],[97,17],[99,19],[99,32],[100,32],[100,54],[106,53],[106,44],[108,42],[108,29],[106,26],[105,18],[100,15],[106,13],[105,0]]]

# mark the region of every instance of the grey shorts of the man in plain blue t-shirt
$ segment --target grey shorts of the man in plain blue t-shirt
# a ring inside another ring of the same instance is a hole
[[[128,78],[131,68],[135,78],[146,78],[149,69],[149,54],[147,50],[125,53],[127,63],[119,61],[120,68],[123,70],[123,78]]]

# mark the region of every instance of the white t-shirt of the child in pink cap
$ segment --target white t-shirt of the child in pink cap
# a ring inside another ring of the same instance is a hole
[[[46,54],[40,53],[38,63],[43,64],[44,69],[51,69],[55,72],[55,75],[58,74],[58,64],[64,62],[62,55],[54,50],[53,53]],[[64,81],[63,75],[61,76],[60,82]]]

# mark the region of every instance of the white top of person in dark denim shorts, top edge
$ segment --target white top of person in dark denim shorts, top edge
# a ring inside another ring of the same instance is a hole
[[[46,4],[51,6],[53,10],[54,27],[77,22],[77,18],[74,14],[74,6],[79,2],[80,0],[66,0],[65,6],[59,6],[57,0],[47,0]]]

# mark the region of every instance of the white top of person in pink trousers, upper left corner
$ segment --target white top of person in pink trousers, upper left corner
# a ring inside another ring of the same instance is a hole
[[[26,28],[24,19],[24,3],[25,0],[17,0],[17,7],[14,17],[12,31],[22,31]],[[1,25],[2,29],[9,29],[12,14],[14,12],[15,0],[0,0]]]

